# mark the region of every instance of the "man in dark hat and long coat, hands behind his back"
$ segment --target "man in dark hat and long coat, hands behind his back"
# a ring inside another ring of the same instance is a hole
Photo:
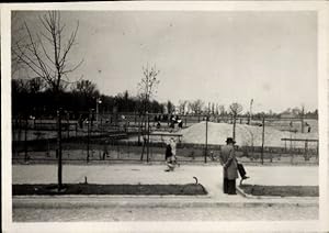
[[[238,178],[238,163],[235,155],[232,137],[227,137],[226,145],[220,149],[220,159],[223,165],[223,190],[227,195],[236,195],[236,179]]]

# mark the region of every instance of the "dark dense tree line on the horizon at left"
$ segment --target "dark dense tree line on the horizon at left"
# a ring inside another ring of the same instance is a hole
[[[101,101],[101,102],[97,102]],[[144,100],[131,96],[126,90],[116,96],[102,95],[95,84],[90,80],[80,80],[70,87],[60,88],[57,95],[41,78],[12,79],[12,114],[29,114],[35,118],[54,118],[61,108],[77,118],[82,112],[95,110],[99,104],[100,113],[135,112],[144,113],[145,101],[148,111],[163,113],[164,103],[157,100]],[[54,103],[57,104],[54,104]]]

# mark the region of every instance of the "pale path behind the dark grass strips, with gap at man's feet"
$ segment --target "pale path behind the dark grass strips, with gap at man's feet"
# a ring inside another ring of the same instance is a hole
[[[197,177],[215,199],[241,199],[223,193],[223,169],[214,165],[182,165],[173,173],[166,173],[163,165],[65,165],[64,182],[89,184],[191,184]],[[273,186],[317,186],[318,167],[246,167],[251,177],[245,184]],[[13,165],[13,184],[56,184],[56,165]]]

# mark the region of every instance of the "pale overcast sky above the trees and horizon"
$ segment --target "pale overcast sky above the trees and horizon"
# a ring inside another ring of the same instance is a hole
[[[39,14],[19,18],[38,31]],[[315,12],[64,11],[61,20],[66,32],[79,22],[69,60],[83,64],[70,79],[83,76],[104,95],[136,95],[141,67],[155,65],[161,102],[318,108]]]

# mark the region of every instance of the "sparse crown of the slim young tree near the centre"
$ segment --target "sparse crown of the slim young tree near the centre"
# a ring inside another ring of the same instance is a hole
[[[148,102],[157,91],[157,85],[160,82],[158,79],[159,73],[160,70],[157,69],[155,65],[152,67],[149,67],[148,65],[146,67],[143,66],[144,77],[141,78],[140,82],[138,82],[138,91],[139,98],[143,101],[144,113],[148,111]]]

